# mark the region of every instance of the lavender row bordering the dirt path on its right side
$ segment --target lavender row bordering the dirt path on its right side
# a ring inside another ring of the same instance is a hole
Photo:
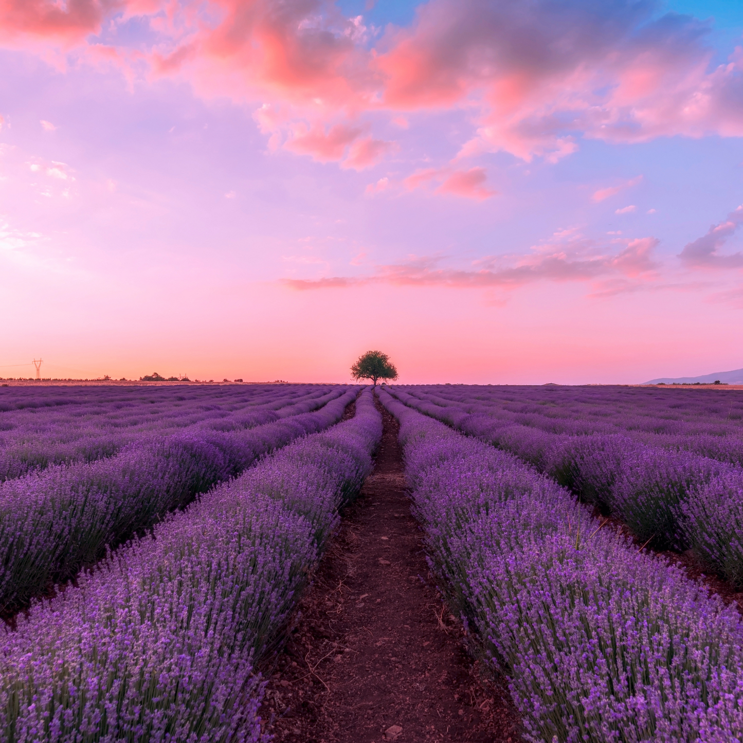
[[[441,586],[539,743],[743,740],[743,626],[510,453],[386,392]]]

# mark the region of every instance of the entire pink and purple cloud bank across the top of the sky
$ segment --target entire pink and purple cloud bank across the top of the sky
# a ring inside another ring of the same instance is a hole
[[[117,14],[149,22],[149,48],[88,41]],[[8,45],[42,53],[38,42],[48,40],[129,76],[147,65],[203,97],[288,107],[285,133],[306,129],[288,146],[323,162],[343,159],[331,141],[337,127],[354,129],[360,114],[379,110],[403,126],[406,111],[466,106],[476,131],[461,157],[503,151],[555,163],[579,136],[743,136],[743,49],[710,68],[703,32],[689,16],[654,18],[647,3],[430,0],[410,27],[389,26],[369,48],[361,16],[346,18],[329,0],[0,0]],[[276,125],[261,126],[276,136]],[[377,161],[383,140],[367,136],[347,167]],[[464,176],[452,178],[442,189],[467,191]]]

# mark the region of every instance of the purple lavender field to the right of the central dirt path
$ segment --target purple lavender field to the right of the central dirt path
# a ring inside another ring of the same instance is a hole
[[[743,739],[736,604],[643,549],[691,549],[742,584],[743,395],[447,385],[381,397],[432,565],[509,677],[528,739]]]

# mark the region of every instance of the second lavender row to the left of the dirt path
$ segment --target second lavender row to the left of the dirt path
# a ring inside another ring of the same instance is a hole
[[[0,484],[0,611],[77,574],[163,513],[298,436],[336,423],[357,387],[283,408],[281,421],[146,436],[100,461],[56,465]],[[308,408],[319,407],[315,412]]]

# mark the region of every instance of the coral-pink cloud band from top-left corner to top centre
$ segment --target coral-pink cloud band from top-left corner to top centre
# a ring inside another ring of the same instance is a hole
[[[133,17],[153,32],[138,48],[115,36]],[[113,32],[106,45],[90,38],[103,28]],[[207,98],[284,101],[325,121],[328,111],[368,106],[379,78],[368,37],[361,16],[346,18],[328,0],[0,0],[6,45],[50,58],[51,42],[129,79],[144,62],[151,77],[179,77]]]

